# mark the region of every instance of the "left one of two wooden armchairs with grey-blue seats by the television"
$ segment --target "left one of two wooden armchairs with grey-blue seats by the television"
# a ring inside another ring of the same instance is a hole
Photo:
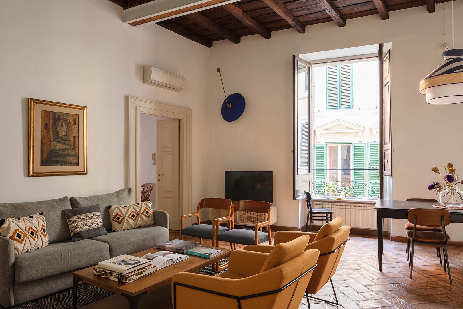
[[[215,244],[215,228],[214,224],[201,224],[200,219],[200,210],[203,208],[214,208],[214,209],[224,209],[227,210],[227,215],[230,216],[233,213],[232,200],[226,198],[217,198],[217,197],[206,197],[203,198],[198,203],[198,208],[194,214],[185,214],[180,218],[180,239],[183,240],[183,236],[191,236],[200,239],[202,245],[203,239],[213,240]],[[196,217],[198,219],[198,224],[192,225],[191,227],[183,227],[185,218]],[[218,231],[225,232],[228,231],[228,227],[217,227]]]

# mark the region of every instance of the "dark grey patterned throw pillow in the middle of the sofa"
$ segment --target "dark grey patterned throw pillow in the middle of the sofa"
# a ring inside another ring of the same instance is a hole
[[[64,209],[68,219],[72,241],[94,238],[106,235],[106,228],[101,220],[100,205],[92,205],[80,208]]]

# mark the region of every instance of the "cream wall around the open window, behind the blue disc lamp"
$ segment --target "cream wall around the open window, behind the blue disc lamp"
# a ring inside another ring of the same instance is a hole
[[[463,2],[456,1],[455,16],[462,14]],[[392,198],[435,197],[426,189],[434,179],[430,167],[450,161],[463,169],[458,135],[463,104],[428,105],[418,92],[419,81],[442,62],[443,22],[443,5],[432,14],[421,6],[390,12],[388,20],[372,15],[349,19],[343,28],[334,22],[311,25],[304,35],[288,29],[272,32],[269,40],[256,35],[242,38],[241,44],[214,43],[209,68],[209,194],[224,195],[224,170],[273,170],[276,224],[298,226],[306,210],[292,199],[292,55],[391,42]],[[463,19],[455,19],[455,29],[455,42],[462,47]],[[224,98],[219,67],[227,92],[239,92],[246,99],[244,114],[232,123],[220,117]],[[449,228],[452,239],[463,240],[457,228],[461,226]],[[394,221],[392,233],[404,235],[402,222]]]

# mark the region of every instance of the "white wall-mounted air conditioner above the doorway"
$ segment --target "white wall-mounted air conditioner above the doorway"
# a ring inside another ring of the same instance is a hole
[[[147,85],[181,91],[185,84],[185,77],[145,65],[143,67],[143,82]]]

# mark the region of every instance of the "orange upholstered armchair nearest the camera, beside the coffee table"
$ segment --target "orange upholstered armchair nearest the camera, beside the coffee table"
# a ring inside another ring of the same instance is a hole
[[[305,250],[308,241],[303,235],[269,253],[233,251],[228,271],[216,276],[175,274],[174,309],[299,308],[319,257],[318,250]]]

